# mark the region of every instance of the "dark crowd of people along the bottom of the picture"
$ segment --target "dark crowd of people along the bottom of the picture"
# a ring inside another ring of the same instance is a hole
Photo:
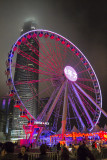
[[[40,146],[40,154],[35,160],[51,160],[47,151],[57,153],[59,160],[101,160],[101,154],[97,149],[96,143],[92,143],[92,150],[90,150],[85,142],[80,142],[79,147],[76,149],[73,144],[67,147],[65,144],[54,145],[52,148],[46,144]],[[55,158],[54,158],[55,159]],[[28,151],[26,152],[26,146],[21,146],[20,152],[14,152],[14,144],[12,142],[6,142],[0,144],[0,160],[29,160]]]

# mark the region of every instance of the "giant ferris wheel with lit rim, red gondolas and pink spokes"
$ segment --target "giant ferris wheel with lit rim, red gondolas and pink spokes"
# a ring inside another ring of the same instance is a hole
[[[73,125],[91,131],[101,112],[107,117],[94,69],[65,37],[43,29],[29,31],[15,42],[7,63],[7,83],[23,113],[49,122],[53,131],[70,131]]]

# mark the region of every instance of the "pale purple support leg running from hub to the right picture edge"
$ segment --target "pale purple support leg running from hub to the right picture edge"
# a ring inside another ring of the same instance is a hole
[[[77,83],[75,86],[107,117],[107,113]]]

